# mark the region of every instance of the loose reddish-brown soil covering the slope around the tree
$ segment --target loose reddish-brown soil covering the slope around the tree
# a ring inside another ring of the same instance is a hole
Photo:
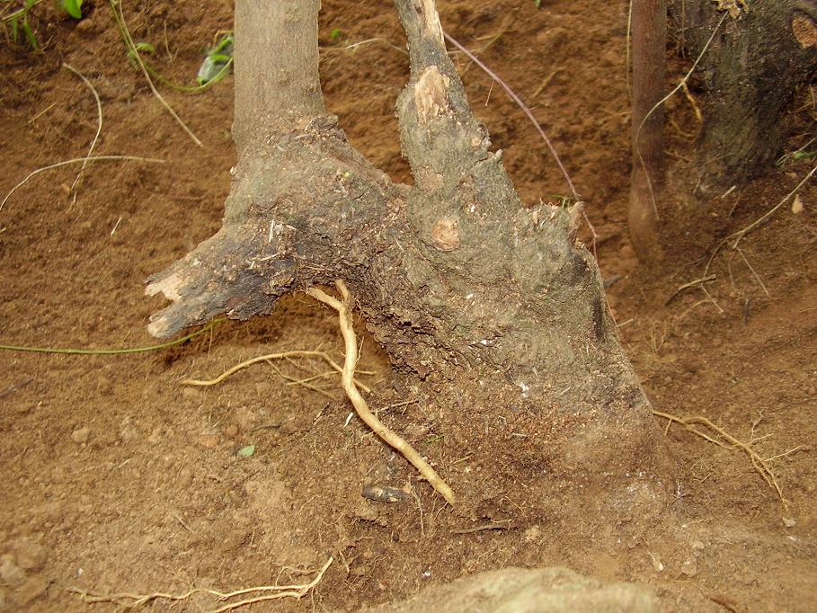
[[[342,49],[373,38],[402,46],[389,4],[324,0],[324,93],[352,143],[409,182],[393,113],[404,55],[380,42]],[[162,301],[143,296],[143,280],[218,228],[229,189],[231,79],[198,95],[163,88],[204,142],[195,147],[129,67],[108,4],[85,6],[88,16],[70,22],[39,5],[42,52],[0,49],[0,194],[35,168],[87,151],[97,128],[93,96],[63,61],[102,99],[97,154],[166,163],[94,164],[75,198],[67,193],[76,166],[41,173],[13,194],[0,211],[0,342],[152,344],[147,316]],[[519,484],[492,493],[505,502],[484,517],[462,517],[402,462],[386,462],[388,452],[360,422],[346,423],[350,408],[334,378],[315,380],[320,390],[313,391],[288,386],[263,365],[220,386],[180,385],[271,351],[321,347],[340,355],[333,314],[295,297],[274,315],[218,325],[167,351],[0,352],[0,609],[88,609],[71,587],[148,593],[304,581],[286,567],[315,569],[331,554],[338,563],[311,600],[270,609],[354,610],[465,573],[564,564],[648,583],[675,610],[692,609],[693,597],[714,611],[815,610],[817,189],[801,191],[802,214],[786,205],[742,241],[742,253],[715,257],[711,301],[692,288],[668,303],[701,276],[706,257],[689,248],[661,271],[644,271],[628,244],[626,10],[624,2],[546,0],[540,10],[532,0],[440,2],[444,26],[534,107],[573,172],[599,233],[602,271],[617,279],[609,302],[622,342],[654,408],[706,415],[753,437],[763,457],[775,458],[788,511],[741,452],[674,426],[666,436],[681,473],[660,530],[639,525],[619,534],[608,526],[601,538],[585,526],[550,522]],[[230,28],[232,3],[144,2],[126,14],[134,39],[155,44],[155,66],[189,83],[201,50]],[[341,32],[334,40],[333,29]],[[564,193],[520,111],[478,67],[458,61],[522,199]],[[684,67],[679,61],[676,78]],[[670,117],[668,148],[688,155],[684,134],[696,126],[684,98],[670,102]],[[810,89],[798,99],[787,150],[813,136],[813,120]],[[717,225],[745,227],[809,168],[789,162],[726,196],[733,210],[724,215],[713,206]],[[386,389],[388,360],[373,342],[364,343],[362,362],[377,370],[370,385]],[[309,361],[276,367],[297,378],[324,371]],[[392,409],[387,421],[431,458],[447,458],[446,438],[435,436],[427,410],[422,403]],[[236,456],[251,443],[251,458]],[[389,467],[412,480],[416,500],[361,498],[362,484]],[[455,480],[472,470],[502,471],[467,456],[443,468]],[[507,529],[461,532],[489,520],[507,520]],[[603,518],[589,518],[587,526],[599,525]],[[204,602],[212,605],[198,596],[182,609]]]

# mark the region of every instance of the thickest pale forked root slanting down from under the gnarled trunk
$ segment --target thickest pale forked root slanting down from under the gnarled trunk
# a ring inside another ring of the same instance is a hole
[[[358,339],[355,336],[354,328],[351,321],[351,296],[349,290],[346,289],[346,284],[342,280],[335,281],[335,286],[341,292],[343,301],[329,296],[324,291],[317,288],[310,288],[306,293],[317,298],[324,305],[332,306],[338,312],[338,319],[341,325],[341,333],[343,341],[346,344],[346,360],[343,364],[343,390],[349,396],[351,404],[355,407],[358,416],[366,425],[374,431],[377,436],[385,440],[406,458],[412,465],[420,471],[420,474],[431,484],[448,504],[454,504],[454,492],[451,488],[440,478],[431,465],[426,462],[422,456],[413,449],[405,440],[395,434],[395,432],[386,428],[377,416],[369,410],[369,404],[360,395],[358,387],[355,383],[354,372],[358,361]]]

